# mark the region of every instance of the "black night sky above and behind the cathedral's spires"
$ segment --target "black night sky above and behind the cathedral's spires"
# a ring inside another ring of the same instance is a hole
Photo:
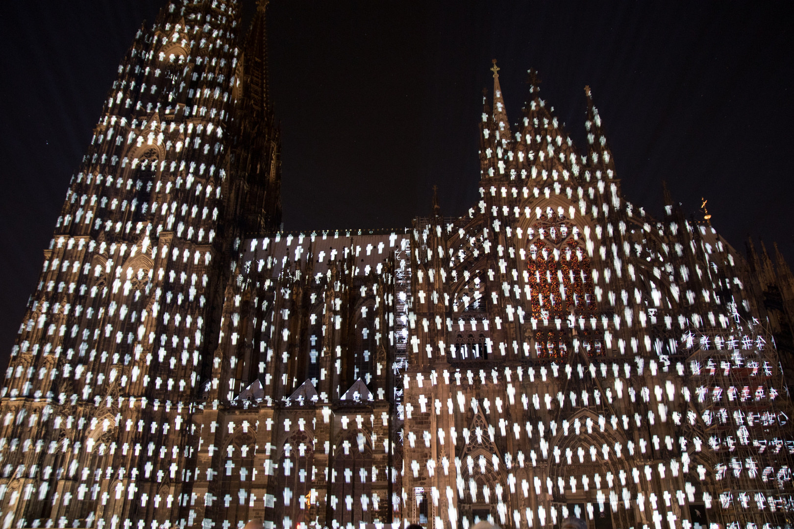
[[[0,12],[0,364],[118,62],[161,0],[6,2]],[[249,3],[252,2],[249,0]],[[270,3],[284,228],[398,227],[477,200],[480,90],[518,121],[529,67],[584,149],[592,87],[627,197],[661,180],[743,249],[794,259],[792,16],[786,2]],[[248,6],[250,10],[250,6]],[[771,247],[770,247],[771,250]]]

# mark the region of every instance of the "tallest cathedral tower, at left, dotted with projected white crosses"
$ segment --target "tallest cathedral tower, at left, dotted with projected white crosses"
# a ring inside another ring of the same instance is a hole
[[[265,6],[245,37],[238,2],[171,3],[121,61],[0,390],[3,527],[193,523],[230,256],[281,217]]]

